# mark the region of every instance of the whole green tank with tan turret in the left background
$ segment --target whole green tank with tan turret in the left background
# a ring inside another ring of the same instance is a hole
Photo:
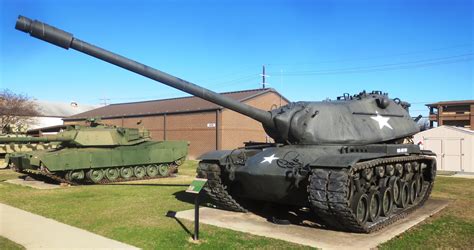
[[[58,142],[55,149],[7,154],[13,170],[69,184],[168,177],[188,153],[187,141],[153,141],[147,130],[91,122],[57,135],[0,138],[1,142]]]

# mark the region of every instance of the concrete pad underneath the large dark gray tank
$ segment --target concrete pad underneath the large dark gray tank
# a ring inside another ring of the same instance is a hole
[[[373,249],[383,242],[405,232],[448,205],[448,201],[428,200],[423,207],[407,217],[371,234],[332,231],[299,225],[275,225],[251,213],[236,213],[202,208],[199,221],[245,233],[285,240],[323,249]],[[194,221],[194,209],[176,213],[176,218]]]

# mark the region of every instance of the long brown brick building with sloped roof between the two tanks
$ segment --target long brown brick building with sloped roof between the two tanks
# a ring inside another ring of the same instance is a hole
[[[288,103],[271,88],[222,94],[263,110]],[[145,127],[155,140],[188,140],[190,159],[212,150],[240,147],[246,141],[269,140],[259,122],[193,96],[112,104],[63,120],[77,124],[90,117],[101,117],[111,125]]]

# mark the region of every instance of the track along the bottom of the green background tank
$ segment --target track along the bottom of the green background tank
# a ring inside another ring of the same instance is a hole
[[[130,177],[128,179],[118,178],[114,181],[110,181],[110,180],[108,180],[107,178],[104,177],[104,179],[102,179],[98,183],[93,183],[93,182],[90,182],[90,181],[89,182],[88,181],[78,181],[78,182],[71,181],[71,180],[68,180],[64,177],[61,177],[61,176],[57,175],[57,174],[51,173],[45,168],[43,168],[41,170],[23,169],[23,170],[20,171],[20,173],[24,173],[28,176],[33,177],[33,178],[35,178],[35,177],[37,177],[37,178],[38,177],[39,178],[48,178],[48,179],[56,181],[58,183],[66,183],[66,184],[71,185],[71,186],[80,186],[80,185],[84,185],[84,184],[94,184],[94,185],[102,184],[102,185],[105,185],[105,184],[118,183],[118,182],[129,182],[129,181],[169,178],[169,177],[173,177],[173,174],[176,173],[177,169],[178,169],[178,166],[175,166],[175,165],[170,166],[169,167],[169,174],[167,176],[157,175],[157,176],[154,176],[154,177],[144,176],[142,178],[138,178],[138,177]]]

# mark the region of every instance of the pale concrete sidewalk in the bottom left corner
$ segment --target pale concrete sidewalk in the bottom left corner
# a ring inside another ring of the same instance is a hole
[[[138,249],[1,203],[0,235],[26,249]]]

